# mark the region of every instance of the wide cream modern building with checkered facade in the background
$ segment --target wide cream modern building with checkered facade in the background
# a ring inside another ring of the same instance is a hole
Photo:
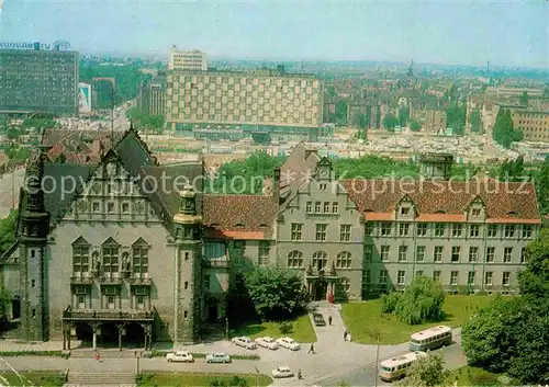
[[[168,73],[167,122],[320,127],[321,80],[245,72]]]

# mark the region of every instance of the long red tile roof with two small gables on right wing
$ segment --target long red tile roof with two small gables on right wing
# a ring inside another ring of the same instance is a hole
[[[339,182],[367,219],[383,220],[407,194],[416,206],[418,220],[463,221],[463,212],[478,196],[486,207],[488,221],[540,223],[531,183],[358,179]]]

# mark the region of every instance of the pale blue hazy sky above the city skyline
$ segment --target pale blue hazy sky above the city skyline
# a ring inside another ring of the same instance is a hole
[[[82,53],[549,67],[546,0],[4,0],[0,31]]]

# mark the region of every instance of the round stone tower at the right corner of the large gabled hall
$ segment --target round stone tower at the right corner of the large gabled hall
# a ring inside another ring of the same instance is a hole
[[[202,300],[202,217],[197,212],[197,194],[186,186],[180,194],[179,212],[173,216],[178,246],[175,273],[175,342],[199,340]]]

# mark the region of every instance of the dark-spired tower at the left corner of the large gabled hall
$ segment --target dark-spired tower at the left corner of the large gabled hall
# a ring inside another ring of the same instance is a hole
[[[25,203],[20,217],[21,337],[26,341],[48,340],[49,214],[44,206],[44,162],[47,149],[40,147],[27,166]]]

